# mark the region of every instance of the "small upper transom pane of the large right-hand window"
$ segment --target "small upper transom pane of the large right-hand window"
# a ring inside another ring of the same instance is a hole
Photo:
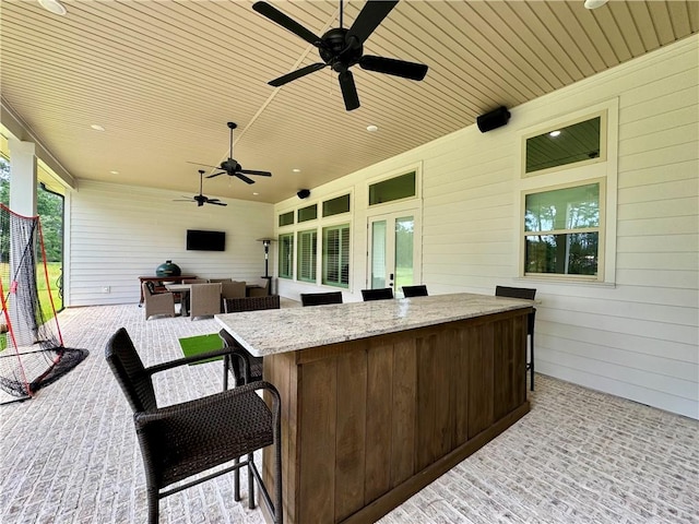
[[[606,159],[604,114],[525,140],[525,176]]]

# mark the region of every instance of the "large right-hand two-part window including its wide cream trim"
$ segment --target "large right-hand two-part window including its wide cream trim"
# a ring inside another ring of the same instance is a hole
[[[519,276],[614,284],[619,100],[522,130]]]

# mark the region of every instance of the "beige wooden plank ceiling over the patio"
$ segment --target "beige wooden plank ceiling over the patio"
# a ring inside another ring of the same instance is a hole
[[[427,76],[414,82],[354,67],[362,107],[346,111],[328,68],[280,88],[266,84],[319,57],[251,1],[63,4],[66,16],[34,0],[0,7],[2,103],[58,162],[78,180],[193,194],[199,166],[190,163],[224,160],[226,122],[234,121],[234,157],[273,177],[252,186],[205,179],[204,193],[261,202],[462,129],[699,25],[696,1],[612,0],[590,11],[582,0],[403,0],[365,53],[426,63]],[[273,4],[317,35],[340,25],[337,1]],[[345,2],[345,26],[363,5]],[[369,124],[379,130],[367,132]]]

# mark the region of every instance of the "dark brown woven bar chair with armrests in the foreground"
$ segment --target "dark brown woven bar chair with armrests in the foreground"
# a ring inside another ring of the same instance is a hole
[[[158,522],[159,499],[232,471],[235,472],[234,498],[239,501],[241,467],[248,468],[250,509],[254,508],[256,479],[274,522],[283,521],[281,403],[272,384],[260,381],[181,404],[157,406],[153,374],[225,354],[229,355],[228,349],[145,368],[126,329],[119,329],[107,343],[107,364],[133,410],[145,469],[150,524]],[[271,409],[258,394],[261,390],[271,400]],[[274,501],[253,460],[253,453],[268,445],[274,446],[275,455]],[[223,469],[210,472],[224,464]],[[201,473],[208,474],[191,479]]]

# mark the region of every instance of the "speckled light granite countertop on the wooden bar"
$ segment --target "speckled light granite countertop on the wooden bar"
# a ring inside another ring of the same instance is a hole
[[[216,314],[257,357],[425,327],[533,306],[470,293]]]

